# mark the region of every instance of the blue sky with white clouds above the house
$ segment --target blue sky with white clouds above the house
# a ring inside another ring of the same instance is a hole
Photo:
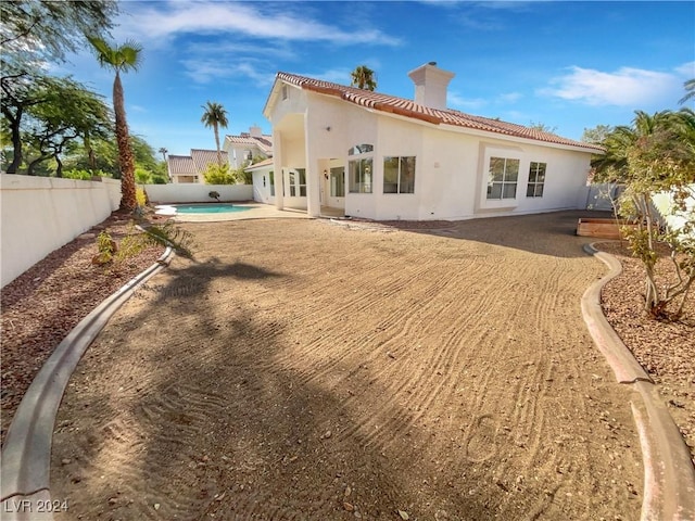
[[[350,85],[366,65],[377,91],[413,99],[407,73],[437,62],[455,74],[447,106],[581,139],[629,125],[634,111],[678,110],[695,78],[695,2],[122,1],[112,42],[140,43],[122,76],[130,132],[157,151],[215,149],[207,101],[229,126],[258,125],[278,72]],[[113,73],[85,47],[56,73],[111,102]],[[692,104],[691,104],[692,107]]]

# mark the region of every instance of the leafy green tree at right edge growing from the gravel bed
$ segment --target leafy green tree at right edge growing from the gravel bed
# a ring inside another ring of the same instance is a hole
[[[686,200],[695,196],[695,113],[636,111],[632,126],[617,127],[603,144],[605,156],[592,165],[599,181],[626,186],[618,213],[634,223],[623,233],[645,269],[645,310],[655,318],[678,318],[695,281],[695,212],[686,209]],[[657,221],[653,200],[659,192],[671,194],[672,212],[685,218],[682,228],[669,229]],[[658,244],[669,249],[677,274],[673,283],[657,280]]]

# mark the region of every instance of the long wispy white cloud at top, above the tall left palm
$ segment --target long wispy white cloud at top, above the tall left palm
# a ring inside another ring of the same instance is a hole
[[[211,35],[233,33],[254,38],[296,41],[330,41],[340,45],[379,43],[395,46],[396,38],[378,29],[342,29],[312,20],[305,12],[292,11],[291,2],[278,10],[270,4],[240,2],[161,2],[128,4],[130,13],[123,20],[124,36],[154,41],[179,34]]]

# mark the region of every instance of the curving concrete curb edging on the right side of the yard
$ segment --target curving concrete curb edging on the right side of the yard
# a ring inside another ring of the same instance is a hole
[[[582,315],[590,334],[619,383],[629,384],[642,399],[631,401],[644,462],[642,521],[695,519],[695,467],[678,425],[658,395],[654,381],[610,327],[601,307],[601,290],[622,271],[620,262],[595,243],[584,252],[605,263],[609,272],[582,295]]]

